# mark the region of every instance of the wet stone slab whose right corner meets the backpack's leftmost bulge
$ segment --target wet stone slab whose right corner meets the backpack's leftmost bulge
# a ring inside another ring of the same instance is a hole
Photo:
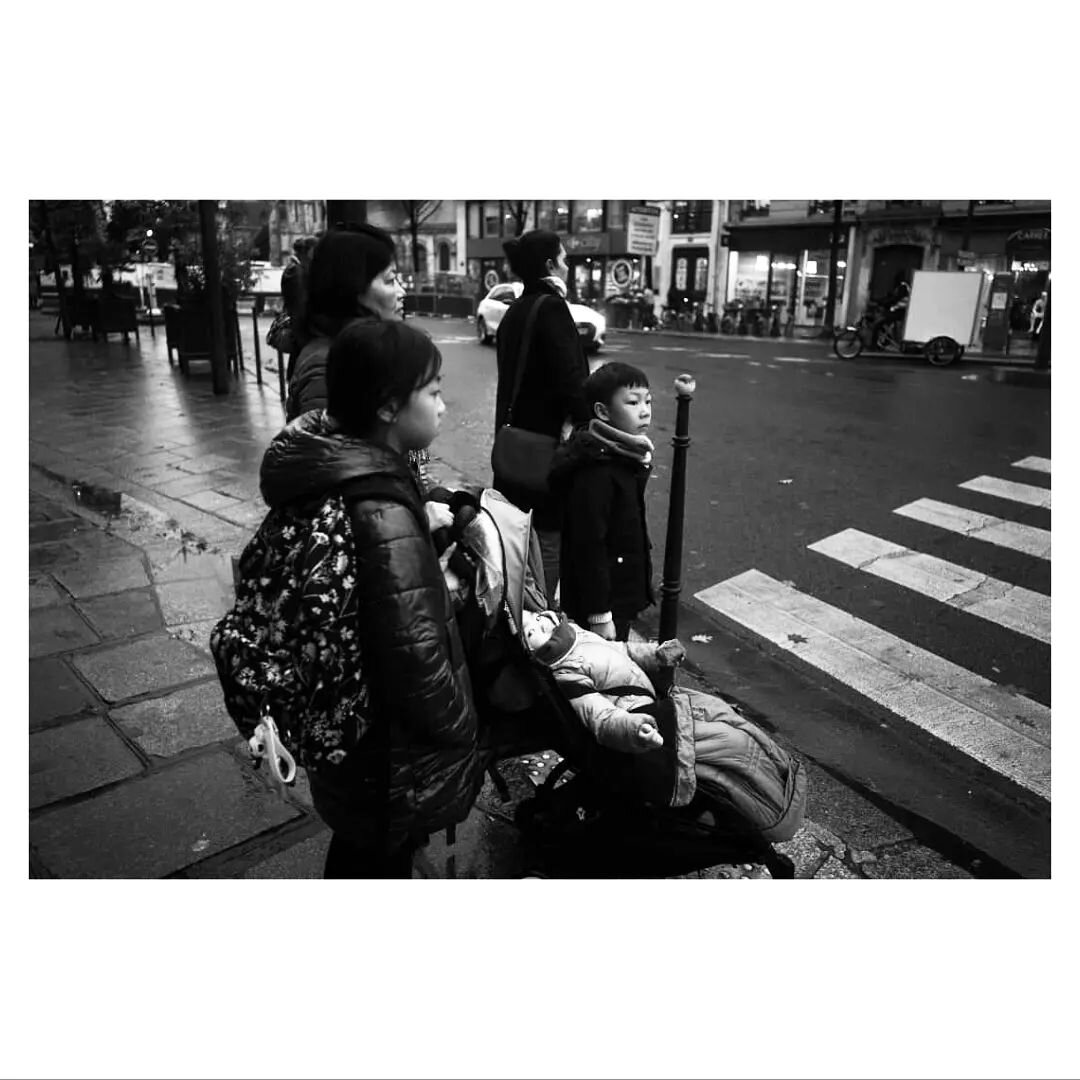
[[[216,674],[213,661],[204,652],[168,634],[105,646],[75,657],[71,663],[109,702]]]

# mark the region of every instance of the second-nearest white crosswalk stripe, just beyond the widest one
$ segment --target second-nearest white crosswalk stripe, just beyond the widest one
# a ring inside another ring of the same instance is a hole
[[[1050,597],[862,532],[845,529],[807,545],[840,563],[1050,644]]]

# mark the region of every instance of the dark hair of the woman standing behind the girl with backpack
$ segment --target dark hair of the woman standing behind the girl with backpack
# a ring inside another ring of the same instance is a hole
[[[360,314],[357,298],[393,260],[393,238],[377,226],[354,225],[327,232],[311,253],[308,316],[352,319]]]

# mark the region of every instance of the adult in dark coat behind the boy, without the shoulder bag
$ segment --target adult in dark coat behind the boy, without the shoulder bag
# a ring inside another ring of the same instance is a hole
[[[522,279],[525,291],[502,316],[496,334],[499,384],[495,430],[508,422],[525,322],[534,306],[541,303],[525,359],[521,392],[510,419],[515,428],[558,437],[567,421],[576,427],[588,423],[591,416],[584,393],[589,362],[566,305],[566,248],[556,233],[542,229],[508,240],[502,246],[511,271]],[[543,552],[548,599],[553,604],[558,583],[562,500],[551,494],[537,495],[498,473],[494,486],[523,510],[532,511],[532,524]]]

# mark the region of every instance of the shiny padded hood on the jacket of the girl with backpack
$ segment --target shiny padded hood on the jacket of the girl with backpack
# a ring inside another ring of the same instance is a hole
[[[271,509],[323,496],[345,481],[378,480],[389,486],[415,482],[405,459],[388,446],[348,435],[324,409],[298,416],[262,456],[259,490]],[[419,495],[414,495],[419,499]]]

